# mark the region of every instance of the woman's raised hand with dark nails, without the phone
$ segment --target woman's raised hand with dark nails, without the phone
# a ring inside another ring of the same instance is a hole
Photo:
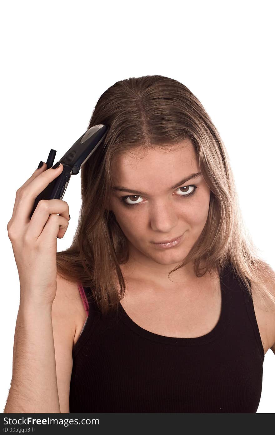
[[[13,214],[7,224],[20,279],[20,304],[52,304],[57,288],[57,238],[69,222],[69,206],[59,199],[42,200],[29,218],[34,198],[63,171],[44,164],[16,192]],[[59,215],[58,215],[59,214]]]

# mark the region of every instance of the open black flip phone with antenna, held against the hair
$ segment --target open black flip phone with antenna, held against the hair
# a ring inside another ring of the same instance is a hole
[[[78,174],[80,168],[88,160],[91,154],[103,142],[109,128],[106,125],[98,124],[89,128],[74,143],[66,154],[59,160],[63,164],[63,171],[42,191],[34,201],[34,207],[31,211],[30,218],[41,199],[62,199],[70,181],[70,176]],[[53,166],[56,151],[50,150],[47,159],[47,169]]]

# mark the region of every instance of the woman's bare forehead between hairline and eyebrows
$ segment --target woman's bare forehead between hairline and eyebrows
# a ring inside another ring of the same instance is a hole
[[[194,145],[185,140],[162,148],[142,147],[114,157],[111,164],[112,184],[146,191],[154,186],[171,186],[181,178],[198,172]]]

